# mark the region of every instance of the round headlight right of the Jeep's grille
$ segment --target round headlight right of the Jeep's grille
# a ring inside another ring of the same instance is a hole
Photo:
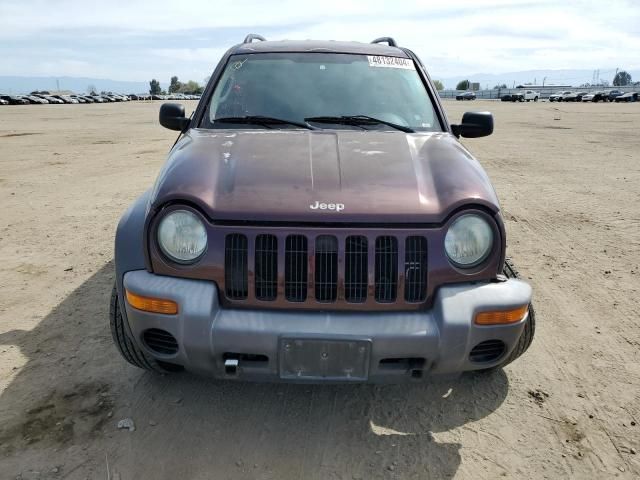
[[[456,218],[444,238],[444,249],[451,263],[470,268],[482,262],[493,247],[493,229],[479,215],[468,213]]]

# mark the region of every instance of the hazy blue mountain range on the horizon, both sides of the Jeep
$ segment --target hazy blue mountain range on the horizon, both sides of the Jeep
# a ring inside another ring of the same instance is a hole
[[[627,70],[634,81],[640,80],[640,70]],[[493,88],[495,85],[514,85],[535,83],[545,85],[573,85],[593,82],[593,70],[527,70],[506,73],[476,73],[456,77],[440,77],[437,72],[431,72],[431,78],[440,80],[445,88],[455,88],[461,80],[480,83],[480,88]],[[600,79],[612,83],[615,69],[600,69]],[[86,92],[89,86],[94,86],[98,92],[142,93],[149,91],[148,82],[128,82],[108,80],[104,78],[88,77],[18,77],[0,76],[0,93],[22,94],[34,90],[71,90],[76,93]],[[161,84],[166,88],[166,84]]]

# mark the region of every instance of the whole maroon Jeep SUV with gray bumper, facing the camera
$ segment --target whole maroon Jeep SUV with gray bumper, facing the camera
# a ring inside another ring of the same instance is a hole
[[[504,212],[459,141],[490,135],[490,113],[450,124],[422,62],[388,37],[248,35],[206,91],[191,117],[160,106],[180,137],[116,231],[110,327],[126,361],[398,383],[527,350],[531,287],[505,263]]]

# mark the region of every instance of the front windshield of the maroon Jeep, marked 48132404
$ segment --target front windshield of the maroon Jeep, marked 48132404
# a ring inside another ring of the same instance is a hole
[[[233,55],[216,85],[202,126],[233,128],[233,123],[216,119],[248,116],[303,123],[310,117],[354,115],[416,131],[442,131],[412,60],[331,53]],[[311,123],[317,128],[365,128]],[[247,127],[246,123],[235,125]],[[297,128],[285,124],[275,127]]]

